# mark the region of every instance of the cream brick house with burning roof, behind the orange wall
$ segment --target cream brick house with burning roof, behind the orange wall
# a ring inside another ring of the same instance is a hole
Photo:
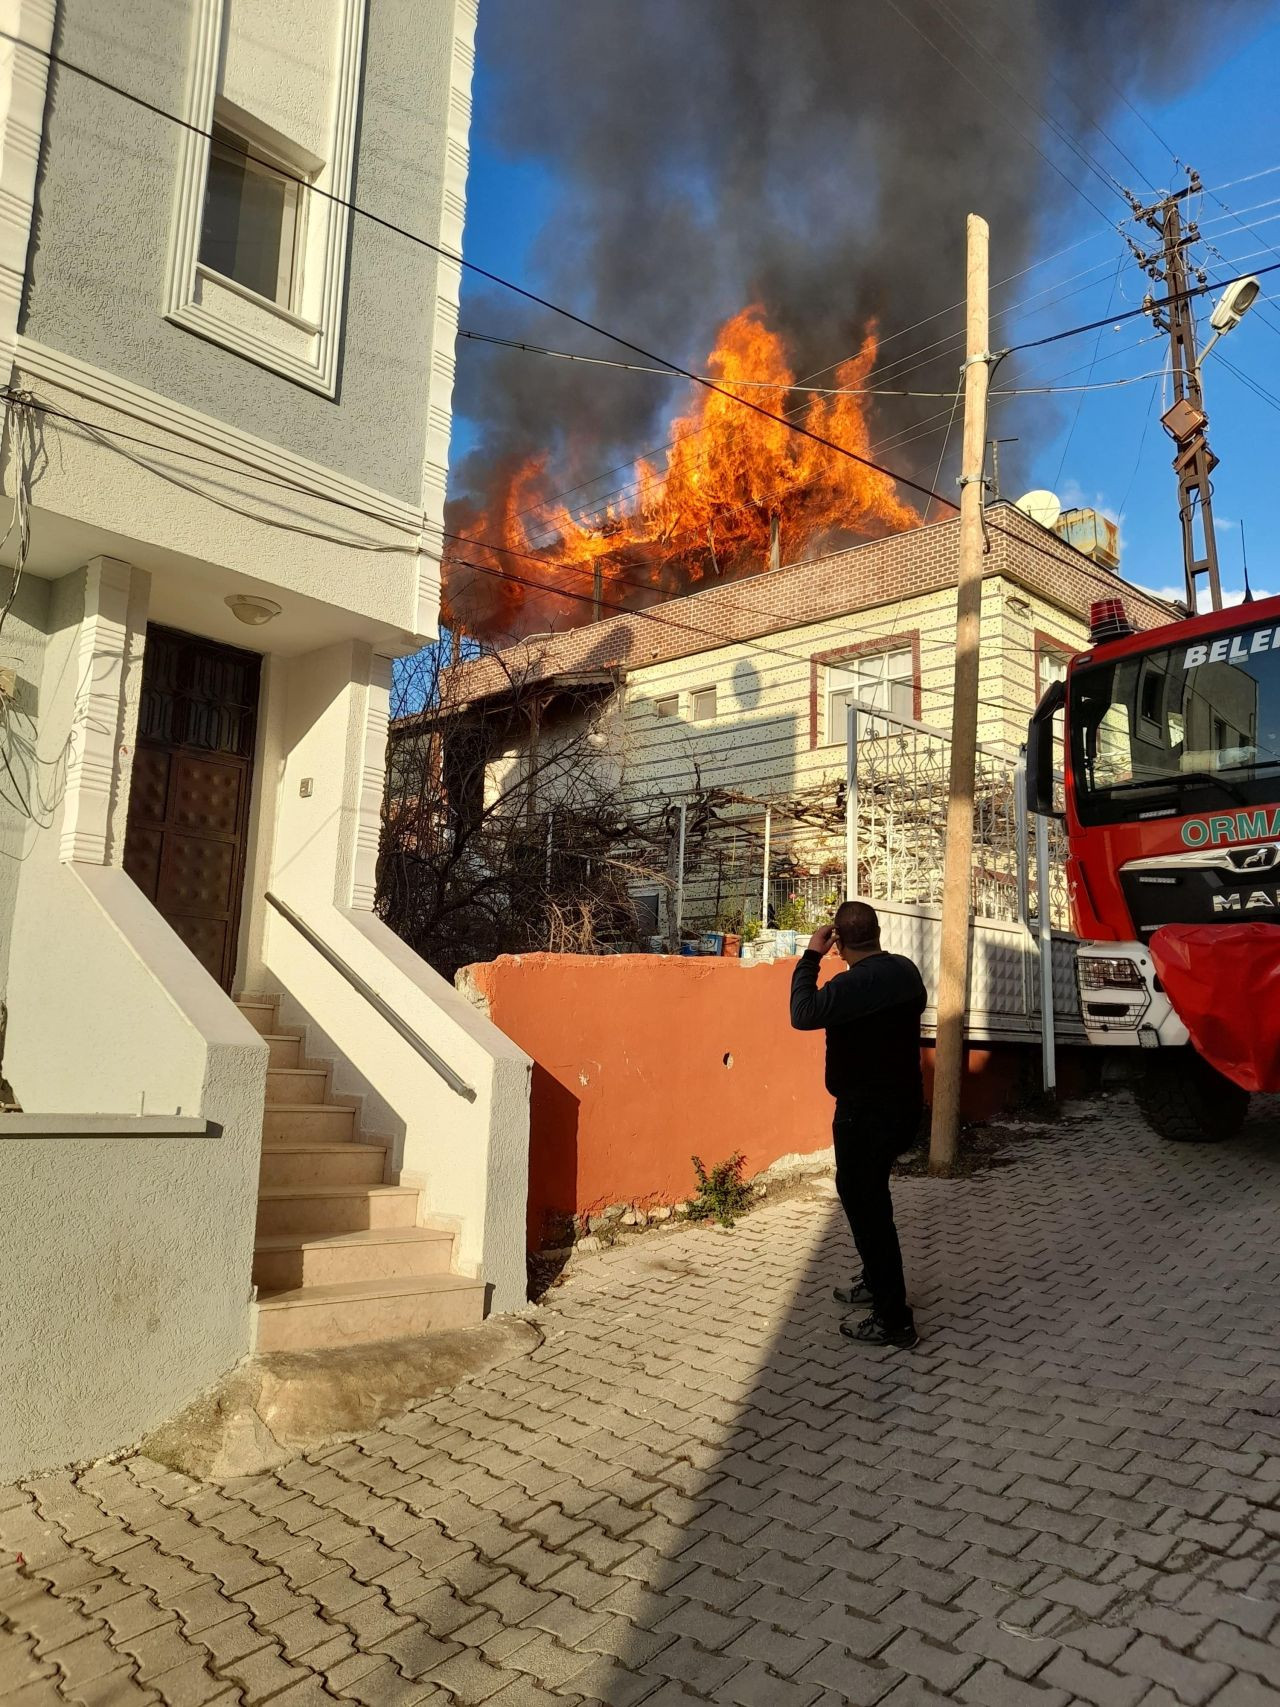
[[[1068,521],[1080,529],[1079,512]],[[847,893],[850,860],[858,893],[877,905],[935,906],[957,526],[920,522],[816,551],[447,669],[435,710],[393,725],[393,775],[435,765],[456,778],[437,802],[437,852],[454,877],[468,836],[476,848],[500,843],[498,865],[514,838],[524,874],[524,935],[497,930],[466,958],[544,947],[544,903],[560,917],[592,896],[604,898],[601,941],[674,942],[783,912],[802,929]],[[975,912],[1010,922],[1014,761],[1039,693],[1087,644],[1099,596],[1123,587],[1145,623],[1169,611],[1014,505],[990,507],[988,534]],[[389,802],[389,862],[420,828],[404,801]],[[430,854],[427,871],[439,883]],[[500,888],[492,879],[485,867],[488,900]],[[630,898],[630,925],[620,898]],[[447,930],[416,946],[447,958]]]

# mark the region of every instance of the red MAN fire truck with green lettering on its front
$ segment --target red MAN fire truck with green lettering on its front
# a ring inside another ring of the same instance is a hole
[[[1280,1091],[1280,597],[1145,633],[1103,599],[1089,628],[1027,731],[1080,1017],[1159,1133],[1224,1139]]]

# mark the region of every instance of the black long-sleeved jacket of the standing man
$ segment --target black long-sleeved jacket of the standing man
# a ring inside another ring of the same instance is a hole
[[[847,1106],[918,1106],[927,995],[915,961],[869,954],[819,990],[821,964],[823,956],[806,949],[792,973],[792,1026],[826,1031],[826,1089]]]

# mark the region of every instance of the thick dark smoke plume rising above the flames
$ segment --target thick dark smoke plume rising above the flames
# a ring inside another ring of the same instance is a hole
[[[715,328],[748,302],[763,304],[800,376],[848,355],[869,319],[884,336],[925,321],[894,338],[882,364],[928,357],[911,384],[945,389],[959,357],[928,347],[963,318],[928,316],[963,297],[969,210],[990,220],[993,278],[1128,213],[1046,116],[1145,193],[1094,126],[1125,119],[1133,137],[1125,97],[1157,102],[1201,77],[1207,56],[1239,46],[1263,12],[1265,0],[481,0],[476,123],[558,184],[521,270],[544,295],[698,369]],[[1184,181],[1150,135],[1137,137],[1135,160],[1159,188]],[[1193,157],[1193,138],[1171,140]],[[1106,253],[1080,251],[1080,266]],[[1113,253],[1120,263],[1120,237]],[[1062,314],[1068,323],[1070,300]],[[626,353],[471,280],[463,324]],[[527,456],[546,456],[550,492],[570,488],[660,446],[686,394],[463,341],[454,406],[480,427],[452,480],[452,526],[466,531],[483,526],[503,473]],[[884,403],[876,437],[937,410]],[[1015,451],[1036,423],[1043,432],[1051,417],[1019,415]],[[940,442],[934,432],[884,456],[932,480]],[[1002,476],[1007,486],[1019,478],[1015,456]],[[597,480],[577,502],[625,481]],[[461,572],[451,599],[480,628],[500,603],[492,580]],[[555,621],[585,615],[563,601]],[[543,606],[543,626],[546,616]]]

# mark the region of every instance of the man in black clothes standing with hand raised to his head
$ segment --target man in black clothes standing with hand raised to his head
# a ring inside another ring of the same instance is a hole
[[[817,968],[831,947],[848,971],[819,990]],[[826,1089],[836,1099],[836,1193],[862,1258],[862,1279],[836,1287],[835,1297],[840,1304],[870,1304],[864,1321],[850,1316],[840,1331],[864,1345],[903,1350],[918,1335],[906,1302],[889,1173],[920,1130],[925,1002],[918,966],[884,953],[881,922],[865,901],[845,901],[835,923],[812,934],[792,975],[792,1026],[826,1031]]]

